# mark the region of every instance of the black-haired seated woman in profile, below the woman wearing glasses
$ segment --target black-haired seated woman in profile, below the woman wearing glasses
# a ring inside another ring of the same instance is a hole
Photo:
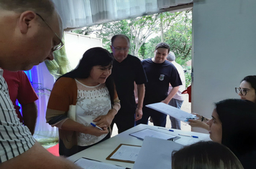
[[[256,166],[256,105],[248,100],[217,102],[207,122],[211,140],[226,145],[244,168]]]

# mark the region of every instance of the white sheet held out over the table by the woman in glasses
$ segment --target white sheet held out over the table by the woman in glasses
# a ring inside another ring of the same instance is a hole
[[[146,107],[157,110],[158,112],[163,112],[164,114],[170,115],[171,117],[174,117],[175,119],[181,120],[183,122],[187,122],[188,119],[197,118],[196,115],[192,115],[191,113],[188,113],[176,107],[167,105],[163,102],[157,102],[150,105],[146,105]]]

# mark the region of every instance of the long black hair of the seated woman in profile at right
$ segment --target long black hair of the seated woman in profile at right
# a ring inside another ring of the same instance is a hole
[[[249,100],[228,99],[215,105],[222,125],[221,143],[232,150],[241,163],[244,155],[256,155],[255,103]]]

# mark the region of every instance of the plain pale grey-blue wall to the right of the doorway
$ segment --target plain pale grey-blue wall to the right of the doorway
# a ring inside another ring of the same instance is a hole
[[[234,87],[256,74],[255,7],[255,0],[194,0],[192,112],[211,117],[214,102],[239,98]]]

